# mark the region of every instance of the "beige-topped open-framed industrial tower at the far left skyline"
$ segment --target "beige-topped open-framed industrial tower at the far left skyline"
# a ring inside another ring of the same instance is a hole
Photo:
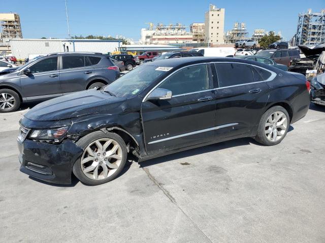
[[[0,14],[0,28],[3,42],[12,38],[22,38],[20,18],[16,13]]]

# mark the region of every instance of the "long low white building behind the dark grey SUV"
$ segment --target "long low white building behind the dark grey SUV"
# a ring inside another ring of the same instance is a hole
[[[12,55],[24,59],[29,55],[46,55],[55,52],[100,52],[118,51],[120,40],[100,39],[11,39]]]

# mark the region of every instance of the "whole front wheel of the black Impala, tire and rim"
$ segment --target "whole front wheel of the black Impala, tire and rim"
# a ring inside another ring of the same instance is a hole
[[[115,133],[96,131],[82,137],[77,145],[84,149],[73,166],[74,175],[84,184],[100,185],[115,179],[123,170],[127,149]]]

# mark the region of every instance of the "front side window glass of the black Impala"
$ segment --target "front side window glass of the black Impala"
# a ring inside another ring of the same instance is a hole
[[[185,67],[167,78],[158,88],[172,91],[173,96],[209,89],[206,64]]]

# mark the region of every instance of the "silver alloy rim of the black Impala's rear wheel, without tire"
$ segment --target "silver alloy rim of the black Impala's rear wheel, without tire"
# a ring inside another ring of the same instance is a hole
[[[272,113],[265,124],[265,135],[270,142],[276,142],[285,134],[288,119],[282,111]]]

